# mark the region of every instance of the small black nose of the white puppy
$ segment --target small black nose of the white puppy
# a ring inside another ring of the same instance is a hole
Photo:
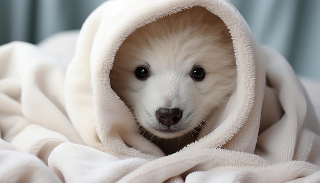
[[[155,116],[159,123],[164,124],[170,128],[170,126],[177,124],[182,116],[182,111],[178,108],[167,109],[159,108],[155,111]]]

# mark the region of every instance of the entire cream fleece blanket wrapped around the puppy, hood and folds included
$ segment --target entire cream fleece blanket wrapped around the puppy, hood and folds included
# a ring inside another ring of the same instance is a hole
[[[137,131],[109,72],[137,28],[195,6],[230,30],[237,88],[196,142],[165,156]],[[320,128],[305,89],[228,1],[108,1],[85,21],[71,63],[60,56],[22,42],[0,47],[1,182],[320,180]]]

